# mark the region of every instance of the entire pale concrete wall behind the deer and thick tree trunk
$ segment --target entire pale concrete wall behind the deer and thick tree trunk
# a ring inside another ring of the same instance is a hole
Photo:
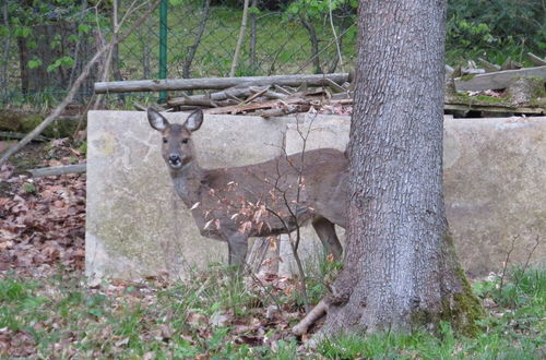
[[[186,115],[167,115],[183,121]],[[260,117],[206,116],[194,134],[203,167],[259,163],[297,153],[305,121]],[[307,148],[344,148],[347,117],[312,120]],[[298,132],[299,130],[299,132]],[[286,133],[286,134],[285,134]],[[512,254],[524,261],[534,240],[546,233],[546,118],[446,119],[444,183],[448,219],[460,257],[471,275],[502,266]],[[91,111],[87,155],[87,275],[134,278],[225,262],[227,247],[199,235],[174,193],[159,156],[159,134],[143,112]],[[304,231],[304,251],[320,249],[312,230]],[[290,271],[286,237],[281,241],[282,272]],[[534,260],[546,257],[541,243]]]

